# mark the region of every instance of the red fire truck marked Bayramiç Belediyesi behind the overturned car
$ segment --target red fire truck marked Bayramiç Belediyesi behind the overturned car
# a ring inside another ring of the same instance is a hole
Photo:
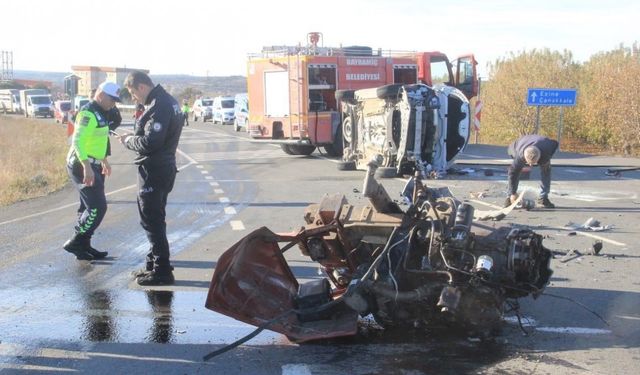
[[[473,55],[449,62],[437,51],[324,47],[322,33],[309,33],[306,46],[263,47],[249,55],[249,133],[256,141],[280,144],[290,155],[309,155],[322,147],[328,155],[340,156],[342,92],[444,83],[471,98],[478,92],[476,64]]]

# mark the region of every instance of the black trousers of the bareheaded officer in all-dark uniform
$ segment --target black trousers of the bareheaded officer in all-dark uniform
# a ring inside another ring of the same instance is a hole
[[[158,272],[170,270],[169,241],[165,221],[167,197],[173,189],[176,167],[169,165],[138,166],[138,213],[140,225],[151,245],[147,262],[153,260]]]

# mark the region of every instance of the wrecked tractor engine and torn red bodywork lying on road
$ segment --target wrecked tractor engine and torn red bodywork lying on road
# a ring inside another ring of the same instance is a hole
[[[542,293],[552,271],[542,236],[472,223],[473,206],[419,173],[390,199],[369,164],[364,207],[326,195],[298,233],[255,230],[218,260],[206,307],[290,340],[354,335],[358,315],[383,327],[452,328],[486,336],[509,299]],[[283,245],[282,247],[280,245]],[[293,247],[325,277],[300,284],[283,253]]]

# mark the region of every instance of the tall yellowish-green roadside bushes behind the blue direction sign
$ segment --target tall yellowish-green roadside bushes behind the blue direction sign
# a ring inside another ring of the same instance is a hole
[[[480,142],[507,144],[535,131],[536,108],[527,88],[575,88],[577,105],[564,108],[563,151],[640,155],[640,46],[620,46],[584,63],[570,51],[511,53],[489,64],[483,82]],[[557,138],[559,107],[542,107],[540,133]]]

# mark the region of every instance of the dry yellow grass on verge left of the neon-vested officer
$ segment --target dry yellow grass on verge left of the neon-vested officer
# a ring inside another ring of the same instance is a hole
[[[62,188],[68,149],[66,129],[52,120],[0,115],[0,206]]]

